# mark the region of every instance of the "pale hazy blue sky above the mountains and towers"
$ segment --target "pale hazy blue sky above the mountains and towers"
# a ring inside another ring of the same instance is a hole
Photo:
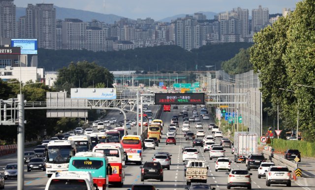
[[[14,0],[17,7],[28,3],[53,3],[64,8],[115,14],[130,19],[151,17],[160,20],[177,14],[192,14],[198,11],[223,12],[235,7],[249,9],[268,7],[269,13],[282,13],[283,8],[294,8],[301,0]]]

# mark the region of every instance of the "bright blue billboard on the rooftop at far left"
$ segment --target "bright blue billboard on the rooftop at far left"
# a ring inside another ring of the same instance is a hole
[[[37,39],[11,39],[12,47],[21,47],[21,54],[37,54]]]

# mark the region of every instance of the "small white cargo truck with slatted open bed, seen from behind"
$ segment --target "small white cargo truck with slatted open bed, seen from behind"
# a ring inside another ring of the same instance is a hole
[[[189,160],[186,165],[186,184],[189,186],[191,182],[207,183],[208,169],[205,161]]]

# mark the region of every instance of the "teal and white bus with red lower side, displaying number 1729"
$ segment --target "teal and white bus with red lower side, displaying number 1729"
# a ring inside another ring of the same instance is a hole
[[[88,171],[98,189],[107,190],[108,176],[112,175],[113,170],[103,153],[79,152],[70,159],[69,171]]]

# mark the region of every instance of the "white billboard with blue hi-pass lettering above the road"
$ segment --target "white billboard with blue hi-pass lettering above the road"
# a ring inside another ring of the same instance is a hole
[[[88,100],[115,100],[115,88],[71,88],[71,98]]]

